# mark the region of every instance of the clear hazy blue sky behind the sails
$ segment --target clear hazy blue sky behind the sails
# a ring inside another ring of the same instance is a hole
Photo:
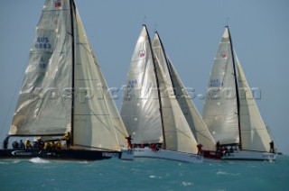
[[[289,1],[287,0],[75,0],[98,63],[110,87],[121,87],[145,23],[194,89],[200,114],[210,69],[228,24],[256,104],[278,150],[289,154]],[[0,142],[10,127],[44,0],[10,0],[0,6]],[[121,93],[116,99],[120,109]]]

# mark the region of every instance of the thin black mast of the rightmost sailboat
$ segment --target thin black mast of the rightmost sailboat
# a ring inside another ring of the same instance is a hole
[[[228,25],[225,26],[228,29]],[[240,125],[240,100],[239,100],[239,95],[238,95],[238,81],[237,81],[237,70],[235,66],[235,59],[234,59],[234,50],[233,50],[233,42],[231,39],[231,34],[228,30],[228,40],[229,40],[229,45],[231,48],[231,55],[232,55],[232,60],[233,60],[233,68],[234,68],[234,79],[235,79],[235,86],[236,86],[236,96],[237,96],[237,113],[238,113],[238,136],[239,136],[239,149],[242,150],[242,138],[241,138],[241,125]]]

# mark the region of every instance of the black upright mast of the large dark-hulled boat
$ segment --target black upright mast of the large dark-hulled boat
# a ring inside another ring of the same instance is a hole
[[[75,14],[75,4],[74,4],[74,1],[73,0],[70,0],[70,20],[71,20],[71,36],[72,36],[72,41],[71,41],[71,51],[72,51],[72,59],[71,59],[71,70],[72,70],[72,77],[71,77],[71,122],[70,122],[70,136],[71,136],[71,145],[73,145],[73,123],[74,123],[74,92],[75,92],[75,89],[74,89],[74,65],[75,65],[75,46],[74,46],[74,14]]]

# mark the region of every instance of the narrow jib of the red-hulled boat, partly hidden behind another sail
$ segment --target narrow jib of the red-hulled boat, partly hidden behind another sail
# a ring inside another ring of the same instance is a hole
[[[176,99],[182,109],[187,122],[190,125],[196,141],[203,145],[203,150],[215,150],[216,141],[211,136],[206,124],[203,122],[197,108],[191,101],[191,96],[182,84],[182,80],[172,65],[172,61],[168,59],[171,68],[172,83],[175,91]]]

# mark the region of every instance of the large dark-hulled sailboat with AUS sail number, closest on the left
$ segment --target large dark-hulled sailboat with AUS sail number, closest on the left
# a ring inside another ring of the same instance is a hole
[[[70,149],[0,150],[0,159],[134,159],[73,0],[46,0],[7,139],[53,140],[70,132]],[[49,137],[51,139],[49,139]]]

